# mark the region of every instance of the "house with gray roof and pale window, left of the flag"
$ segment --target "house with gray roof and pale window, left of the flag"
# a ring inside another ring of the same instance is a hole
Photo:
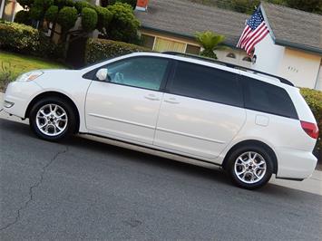
[[[164,52],[200,53],[197,32],[210,30],[226,36],[229,50],[218,51],[221,61],[250,67],[251,58],[236,49],[247,14],[200,5],[189,0],[150,0],[146,11],[135,11],[141,21],[143,45]]]

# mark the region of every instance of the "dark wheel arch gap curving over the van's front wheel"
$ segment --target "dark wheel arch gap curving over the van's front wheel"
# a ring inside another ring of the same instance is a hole
[[[40,100],[47,98],[47,97],[58,97],[58,98],[61,98],[71,104],[73,111],[75,113],[75,117],[76,117],[76,129],[75,130],[78,131],[80,128],[80,120],[81,120],[80,119],[80,112],[79,112],[77,106],[75,105],[74,101],[71,98],[69,98],[67,95],[65,95],[61,92],[42,92],[42,93],[36,95],[34,97],[34,99],[29,102],[28,107],[24,113],[24,118],[29,118],[30,111],[32,110],[34,104],[37,101],[40,101]]]

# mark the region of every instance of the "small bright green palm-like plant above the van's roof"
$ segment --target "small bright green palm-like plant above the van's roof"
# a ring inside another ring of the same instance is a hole
[[[226,38],[224,35],[215,34],[211,31],[205,31],[202,33],[197,33],[195,36],[197,42],[200,43],[201,47],[203,48],[202,52],[200,53],[201,56],[217,59],[215,51],[228,48],[222,44]]]

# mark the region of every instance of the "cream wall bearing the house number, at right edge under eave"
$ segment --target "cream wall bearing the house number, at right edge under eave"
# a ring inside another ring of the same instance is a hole
[[[278,75],[293,82],[298,87],[314,89],[320,69],[321,57],[286,48],[278,67]]]

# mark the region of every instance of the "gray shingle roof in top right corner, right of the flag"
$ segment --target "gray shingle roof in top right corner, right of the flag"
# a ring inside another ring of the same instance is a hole
[[[322,53],[322,15],[261,3],[275,43]]]

